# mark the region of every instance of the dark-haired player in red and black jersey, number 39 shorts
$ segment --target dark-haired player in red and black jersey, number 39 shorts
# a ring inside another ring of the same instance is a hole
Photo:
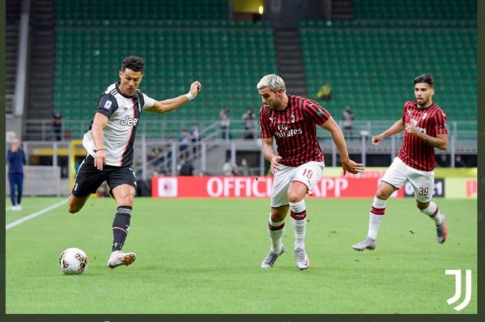
[[[446,114],[432,100],[433,87],[434,80],[430,74],[414,78],[416,100],[405,102],[403,118],[385,132],[372,137],[372,143],[378,145],[387,136],[405,130],[399,154],[382,177],[376,197],[374,197],[369,214],[367,237],[353,245],[353,249],[357,251],[376,248],[377,233],[382,217],[384,217],[386,200],[407,181],[414,188],[418,209],[434,221],[438,242],[443,244],[448,238],[446,218],[441,215],[438,206],[432,202],[434,148],[446,150],[448,147]]]

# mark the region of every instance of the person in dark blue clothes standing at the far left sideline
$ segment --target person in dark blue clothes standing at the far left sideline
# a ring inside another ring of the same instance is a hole
[[[22,150],[19,145],[19,140],[14,138],[12,143],[10,143],[10,149],[7,152],[8,180],[10,181],[10,199],[12,200],[12,211],[22,210],[20,201],[22,198],[22,184],[24,183],[24,166],[27,164],[24,150]],[[27,171],[28,168],[26,168],[26,172]],[[17,198],[15,198],[16,193]]]

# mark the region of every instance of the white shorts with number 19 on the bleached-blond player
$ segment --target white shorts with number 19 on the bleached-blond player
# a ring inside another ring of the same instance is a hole
[[[324,162],[316,161],[303,163],[299,167],[289,167],[281,164],[280,169],[274,174],[273,178],[272,208],[288,205],[288,188],[292,181],[301,182],[308,188],[308,193],[311,193],[312,188],[319,183],[324,168]]]

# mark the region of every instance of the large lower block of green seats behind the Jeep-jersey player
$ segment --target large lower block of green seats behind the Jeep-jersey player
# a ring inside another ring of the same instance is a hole
[[[247,22],[231,28],[220,22],[207,28],[195,24],[202,22],[186,22],[184,28],[58,26],[55,109],[66,120],[91,119],[99,94],[118,80],[123,58],[139,55],[145,59],[140,89],[152,98],[179,96],[194,80],[202,83],[200,97],[190,107],[164,114],[165,120],[218,120],[225,105],[240,120],[247,107],[261,105],[256,91],[261,76],[276,72],[272,30]],[[151,113],[143,118],[159,120]],[[174,131],[175,137],[180,129]]]

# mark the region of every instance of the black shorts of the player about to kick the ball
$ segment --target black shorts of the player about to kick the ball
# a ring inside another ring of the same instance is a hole
[[[74,186],[72,195],[74,197],[83,198],[96,193],[99,186],[106,181],[109,186],[109,194],[112,194],[112,190],[116,186],[122,184],[129,184],[136,189],[136,177],[132,168],[104,166],[103,170],[98,170],[94,166],[94,157],[87,156],[79,166],[76,179],[74,179]]]

